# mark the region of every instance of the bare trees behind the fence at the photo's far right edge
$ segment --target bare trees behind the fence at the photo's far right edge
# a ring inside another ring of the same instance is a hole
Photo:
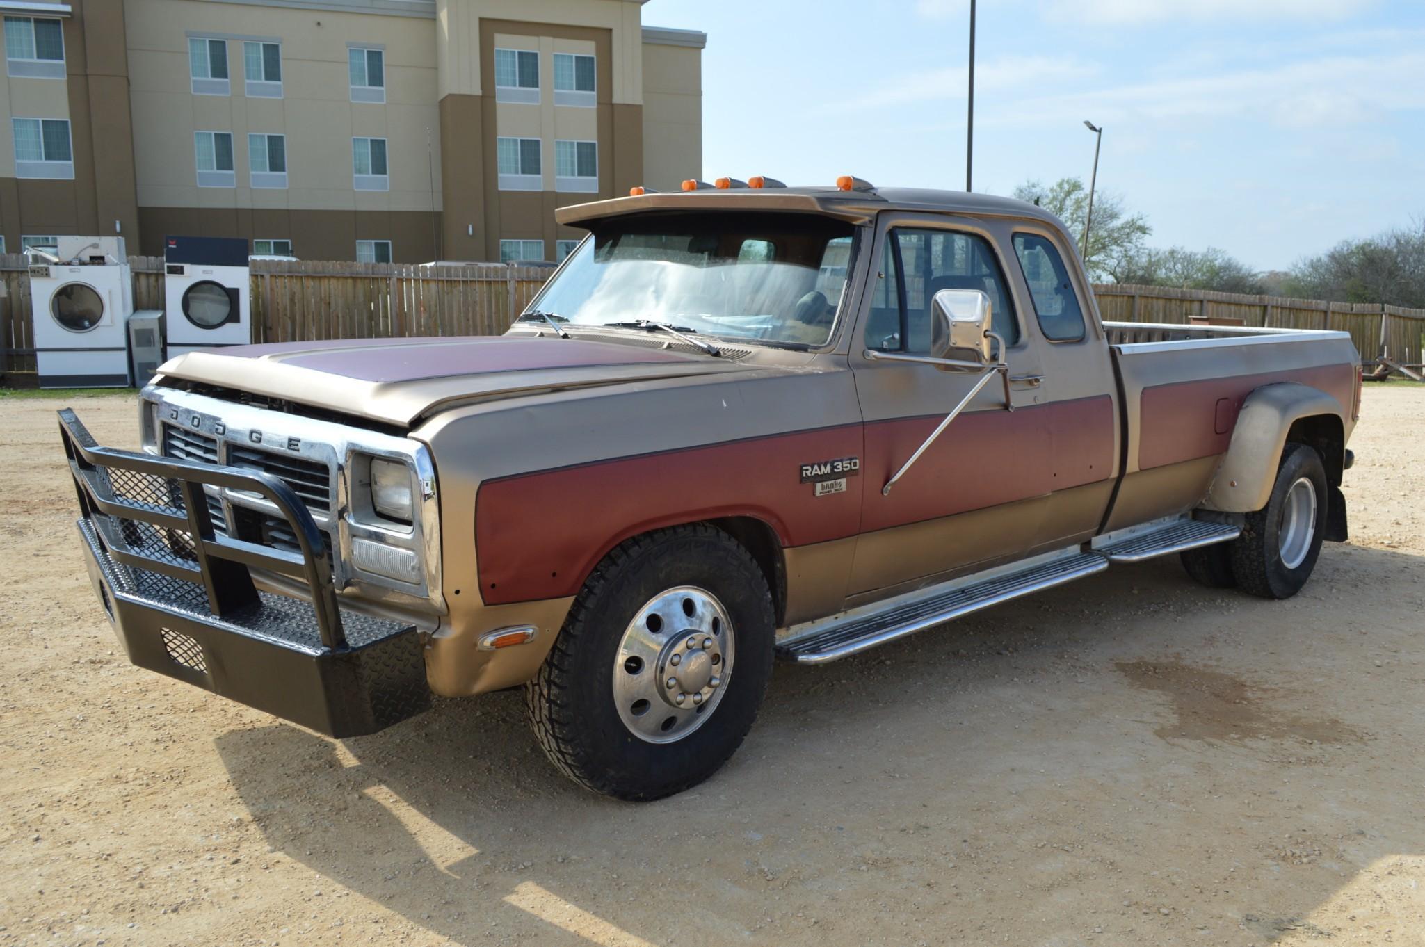
[[[1425,308],[1425,218],[1298,262],[1284,295]]]

